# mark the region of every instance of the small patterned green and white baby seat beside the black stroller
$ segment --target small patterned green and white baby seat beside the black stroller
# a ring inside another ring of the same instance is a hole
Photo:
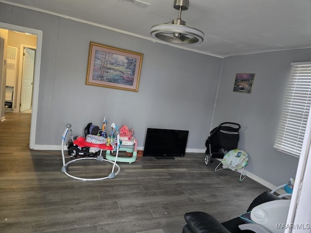
[[[223,165],[222,168],[218,168],[220,165]],[[240,182],[244,180],[246,174],[243,173],[245,166],[248,164],[248,153],[244,150],[234,149],[230,150],[225,154],[223,160],[219,163],[219,165],[215,168],[215,171],[219,171],[222,169],[230,169],[232,171],[239,172]],[[238,170],[241,169],[242,171]]]

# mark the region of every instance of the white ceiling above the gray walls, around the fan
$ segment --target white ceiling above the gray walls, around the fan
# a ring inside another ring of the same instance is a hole
[[[177,18],[178,11],[173,0],[142,1],[150,6],[119,0],[0,0],[157,41],[150,28]],[[190,0],[181,17],[205,33],[201,44],[177,46],[188,50],[226,57],[311,48],[311,0]]]

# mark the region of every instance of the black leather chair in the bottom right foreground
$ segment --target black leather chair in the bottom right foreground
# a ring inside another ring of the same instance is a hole
[[[263,192],[253,200],[248,207],[247,212],[262,203],[280,199],[281,198],[271,192]],[[185,214],[185,220],[187,225],[184,226],[182,233],[253,233],[253,231],[242,231],[239,228],[239,225],[245,224],[239,216],[229,221],[220,223],[213,216],[205,212],[189,212]]]

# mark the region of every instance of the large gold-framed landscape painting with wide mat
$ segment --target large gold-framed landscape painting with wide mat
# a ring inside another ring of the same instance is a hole
[[[86,84],[138,92],[143,54],[89,44]]]

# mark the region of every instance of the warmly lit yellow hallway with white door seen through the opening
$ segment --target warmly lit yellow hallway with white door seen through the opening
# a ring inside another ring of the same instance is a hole
[[[37,36],[6,31],[5,112],[31,113]]]

